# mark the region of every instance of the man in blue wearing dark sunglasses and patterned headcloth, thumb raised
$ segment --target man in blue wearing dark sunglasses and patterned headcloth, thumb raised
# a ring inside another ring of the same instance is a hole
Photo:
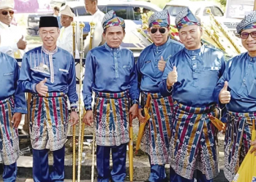
[[[148,181],[164,181],[166,178],[165,164],[169,163],[170,121],[172,117],[173,99],[162,97],[159,83],[165,69],[166,60],[181,50],[184,46],[168,37],[170,31],[170,15],[167,10],[155,12],[148,19],[148,33],[154,44],[149,45],[140,53],[136,68],[140,84],[140,106],[145,106],[148,93],[151,94],[149,115],[146,124],[141,149],[146,151],[151,163],[151,174]],[[146,122],[141,114],[140,122]]]

